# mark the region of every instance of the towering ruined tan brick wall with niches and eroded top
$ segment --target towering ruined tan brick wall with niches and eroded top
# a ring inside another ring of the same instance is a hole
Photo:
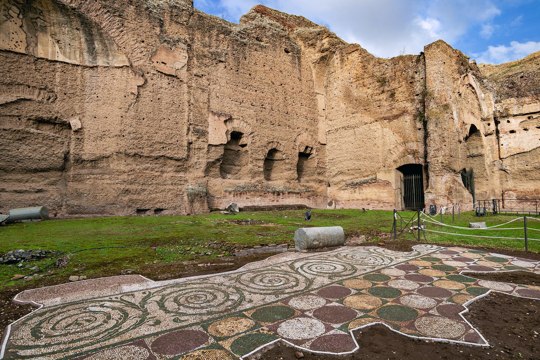
[[[410,164],[426,205],[470,203],[467,168],[477,198],[540,190],[538,54],[381,59],[262,5],[234,24],[173,0],[0,0],[0,29],[0,211],[401,209]]]

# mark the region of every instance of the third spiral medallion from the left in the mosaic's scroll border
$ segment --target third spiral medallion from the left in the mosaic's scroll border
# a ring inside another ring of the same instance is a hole
[[[299,292],[307,289],[310,283],[309,279],[301,274],[273,269],[247,271],[240,274],[237,281],[246,286],[245,291],[262,295]]]

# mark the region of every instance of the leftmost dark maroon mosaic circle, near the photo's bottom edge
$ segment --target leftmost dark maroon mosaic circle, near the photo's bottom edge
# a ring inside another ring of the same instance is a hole
[[[160,355],[180,355],[193,351],[208,341],[208,335],[200,330],[177,330],[161,335],[150,345]]]

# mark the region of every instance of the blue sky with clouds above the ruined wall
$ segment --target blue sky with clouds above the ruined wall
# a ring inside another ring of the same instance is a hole
[[[443,39],[477,63],[500,64],[540,50],[540,0],[194,0],[239,22],[263,4],[325,25],[379,57],[418,54]]]

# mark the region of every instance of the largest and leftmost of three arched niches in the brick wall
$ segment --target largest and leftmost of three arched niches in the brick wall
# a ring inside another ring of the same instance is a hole
[[[243,132],[231,131],[225,144],[219,172],[223,179],[242,179],[247,176],[249,152]]]

